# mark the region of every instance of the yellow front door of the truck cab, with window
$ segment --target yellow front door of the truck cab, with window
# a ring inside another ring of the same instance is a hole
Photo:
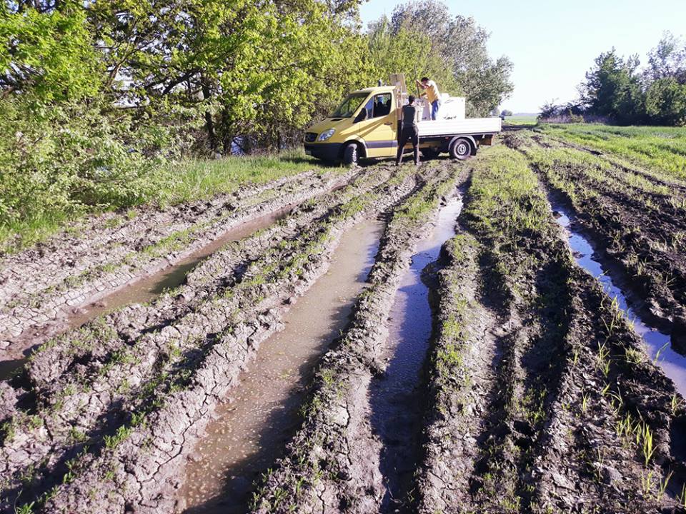
[[[358,124],[358,135],[367,145],[368,157],[394,157],[398,148],[397,111],[392,93],[372,96],[364,106],[367,119]]]

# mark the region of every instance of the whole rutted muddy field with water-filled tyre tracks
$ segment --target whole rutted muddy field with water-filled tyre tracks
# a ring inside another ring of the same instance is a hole
[[[0,512],[683,512],[685,191],[517,131],[6,257]]]

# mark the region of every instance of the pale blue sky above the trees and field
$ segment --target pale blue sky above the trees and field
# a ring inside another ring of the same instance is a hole
[[[403,1],[371,0],[362,4],[365,23],[390,15]],[[491,56],[507,55],[515,63],[515,91],[502,108],[535,112],[545,101],[577,96],[600,52],[615,46],[620,55],[647,51],[663,31],[686,36],[686,0],[444,0],[452,14],[472,16],[491,33]]]

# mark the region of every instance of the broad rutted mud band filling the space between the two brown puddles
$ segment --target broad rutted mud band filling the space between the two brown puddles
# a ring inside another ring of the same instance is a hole
[[[151,304],[41,346],[0,390],[1,508],[20,495],[44,512],[172,510],[214,407],[327,270],[342,233],[416,186],[409,168],[368,168],[213,253]]]

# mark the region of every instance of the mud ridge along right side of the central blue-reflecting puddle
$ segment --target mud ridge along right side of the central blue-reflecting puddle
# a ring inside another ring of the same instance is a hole
[[[486,292],[477,242],[459,233],[444,244],[442,261],[434,291],[429,405],[416,487],[421,513],[450,512],[469,491],[477,436],[486,430],[484,415],[500,357],[496,339],[501,323],[482,302]]]

